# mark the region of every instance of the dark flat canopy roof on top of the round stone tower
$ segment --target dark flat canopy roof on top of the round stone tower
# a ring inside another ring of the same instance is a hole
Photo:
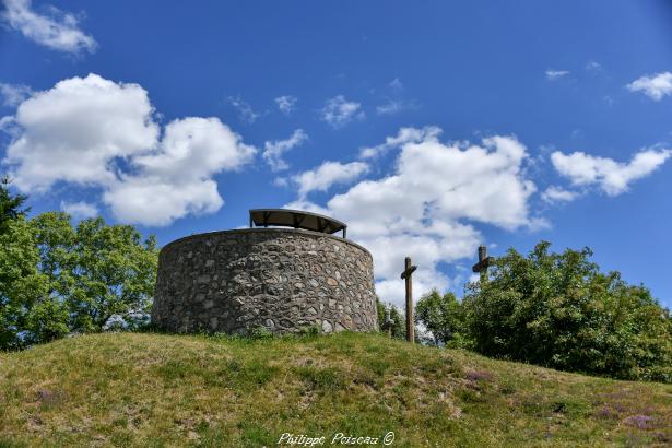
[[[322,234],[334,234],[343,231],[345,238],[347,225],[329,216],[317,213],[288,209],[254,209],[249,211],[249,226],[278,225],[283,227],[304,228]]]

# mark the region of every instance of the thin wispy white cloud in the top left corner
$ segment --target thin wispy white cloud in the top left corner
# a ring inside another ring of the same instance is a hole
[[[50,7],[51,16],[39,15],[31,9],[31,0],[4,0],[2,21],[25,37],[48,48],[78,54],[93,52],[97,44],[79,27],[75,15]]]

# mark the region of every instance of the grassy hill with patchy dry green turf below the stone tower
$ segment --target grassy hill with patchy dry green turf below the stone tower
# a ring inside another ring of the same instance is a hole
[[[394,447],[665,446],[672,386],[353,333],[108,333],[0,355],[0,447],[257,447],[283,433],[384,446],[388,432]]]

